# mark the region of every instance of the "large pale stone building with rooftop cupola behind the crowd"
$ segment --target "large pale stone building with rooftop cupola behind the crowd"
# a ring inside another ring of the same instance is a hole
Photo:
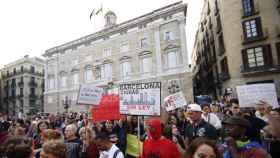
[[[120,24],[109,11],[103,30],[46,50],[45,111],[87,111],[76,105],[80,84],[112,91],[119,83],[160,81],[162,100],[178,90],[192,100],[186,11],[177,2]]]

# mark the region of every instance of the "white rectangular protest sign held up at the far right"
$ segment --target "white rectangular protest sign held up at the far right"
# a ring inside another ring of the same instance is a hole
[[[273,107],[278,107],[275,84],[252,84],[236,87],[240,107],[255,107],[260,101],[265,101]]]

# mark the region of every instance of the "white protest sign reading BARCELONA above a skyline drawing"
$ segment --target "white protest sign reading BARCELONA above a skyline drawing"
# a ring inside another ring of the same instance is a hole
[[[160,82],[120,84],[120,112],[160,115]]]

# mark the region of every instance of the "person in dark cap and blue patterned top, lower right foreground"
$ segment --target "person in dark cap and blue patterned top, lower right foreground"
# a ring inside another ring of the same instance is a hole
[[[224,158],[269,158],[270,155],[256,141],[246,137],[250,122],[240,116],[223,120],[225,142],[219,148]]]

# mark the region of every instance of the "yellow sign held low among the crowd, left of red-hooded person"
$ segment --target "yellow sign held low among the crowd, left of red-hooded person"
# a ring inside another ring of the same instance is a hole
[[[134,157],[139,157],[142,153],[143,143],[137,138],[137,136],[132,134],[127,134],[126,140],[126,153]]]

